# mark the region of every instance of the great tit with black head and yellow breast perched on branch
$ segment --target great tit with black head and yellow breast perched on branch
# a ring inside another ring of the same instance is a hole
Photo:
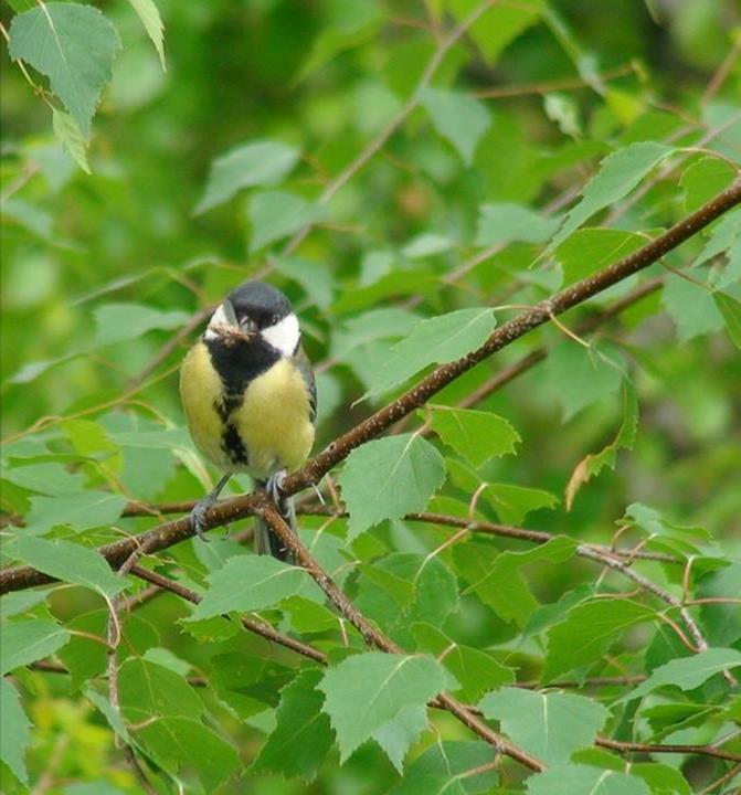
[[[180,396],[190,435],[224,473],[191,512],[203,540],[205,512],[237,471],[267,489],[295,531],[293,506],[280,487],[311,451],[317,411],[314,371],[300,338],[286,296],[262,282],[247,282],[224,298],[182,362]],[[260,520],[255,549],[290,560]]]

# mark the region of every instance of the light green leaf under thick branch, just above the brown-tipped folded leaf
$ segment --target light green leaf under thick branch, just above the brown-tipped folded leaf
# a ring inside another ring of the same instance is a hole
[[[546,379],[551,395],[561,404],[563,422],[620,389],[624,373],[613,349],[584,348],[572,341],[557,346],[546,359]]]

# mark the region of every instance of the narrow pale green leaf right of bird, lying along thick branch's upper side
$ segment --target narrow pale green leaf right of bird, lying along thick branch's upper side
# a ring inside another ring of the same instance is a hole
[[[488,307],[458,309],[421,320],[391,349],[373,389],[363,398],[385,392],[430,364],[443,364],[470,353],[484,344],[496,325]]]

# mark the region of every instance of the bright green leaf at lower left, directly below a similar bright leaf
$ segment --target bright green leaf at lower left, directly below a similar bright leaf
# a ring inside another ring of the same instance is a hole
[[[236,749],[192,718],[163,718],[145,722],[137,741],[173,777],[194,771],[207,792],[215,792],[242,768]]]

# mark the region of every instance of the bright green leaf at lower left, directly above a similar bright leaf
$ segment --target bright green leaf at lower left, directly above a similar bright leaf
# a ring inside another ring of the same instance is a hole
[[[121,711],[130,723],[203,713],[203,701],[184,677],[150,660],[129,657],[118,672],[118,687]]]

